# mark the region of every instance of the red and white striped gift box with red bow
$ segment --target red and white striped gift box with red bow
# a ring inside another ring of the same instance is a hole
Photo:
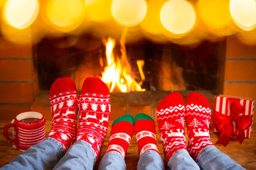
[[[250,137],[254,103],[253,98],[225,95],[215,97],[213,132],[220,134],[216,144],[226,146],[230,140],[242,143],[245,137]],[[231,135],[237,137],[233,138]]]

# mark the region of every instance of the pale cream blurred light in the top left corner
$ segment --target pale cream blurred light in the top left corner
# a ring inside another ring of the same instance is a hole
[[[31,25],[38,16],[37,0],[9,0],[4,8],[4,16],[11,26],[23,29]]]

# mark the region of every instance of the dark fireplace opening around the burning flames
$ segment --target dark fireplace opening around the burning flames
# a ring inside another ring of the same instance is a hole
[[[80,91],[86,77],[102,78],[107,64],[106,40],[80,35],[44,38],[38,42],[34,51],[40,89],[50,89],[58,77],[70,77]],[[130,76],[146,91],[222,92],[225,41],[204,41],[196,47],[156,44],[149,40],[124,45],[122,49],[122,43],[115,40],[113,55],[120,59],[125,53],[131,67]],[[137,61],[144,62],[143,80]]]

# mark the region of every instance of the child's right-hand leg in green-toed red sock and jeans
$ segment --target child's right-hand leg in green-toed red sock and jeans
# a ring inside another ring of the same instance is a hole
[[[137,169],[164,169],[164,163],[156,144],[154,120],[149,115],[139,113],[134,121],[134,132],[139,150]]]

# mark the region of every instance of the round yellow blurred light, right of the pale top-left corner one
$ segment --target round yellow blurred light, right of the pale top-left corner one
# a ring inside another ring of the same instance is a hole
[[[50,0],[47,16],[64,32],[77,28],[82,23],[84,8],[80,0]]]

